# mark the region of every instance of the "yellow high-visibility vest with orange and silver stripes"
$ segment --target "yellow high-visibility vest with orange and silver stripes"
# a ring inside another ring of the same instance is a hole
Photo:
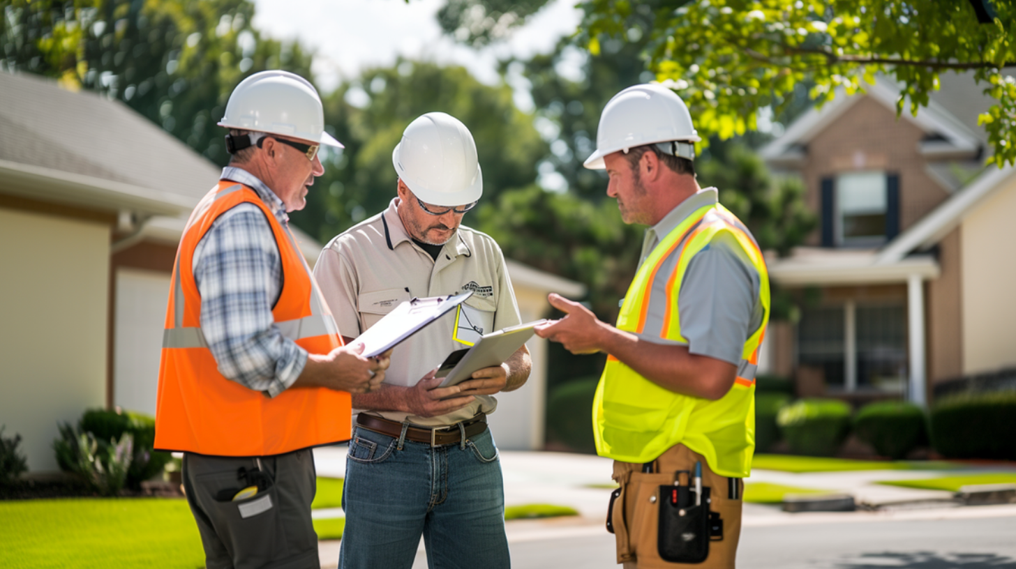
[[[664,389],[609,356],[592,403],[596,452],[624,462],[649,462],[682,443],[705,456],[716,473],[746,478],[755,450],[755,372],[769,320],[769,276],[748,229],[726,208],[697,209],[652,250],[628,288],[617,327],[688,343],[681,334],[678,294],[688,263],[722,234],[733,236],[759,273],[762,324],[745,340],[731,390],[711,401]]]

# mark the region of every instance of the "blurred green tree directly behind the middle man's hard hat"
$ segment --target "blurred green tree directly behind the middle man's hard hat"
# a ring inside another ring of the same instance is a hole
[[[399,60],[340,85],[324,107],[325,123],[334,126],[345,149],[325,157],[309,206],[293,216],[322,241],[388,205],[396,180],[391,152],[424,113],[442,111],[469,128],[484,174],[482,204],[532,184],[536,163],[547,153],[532,117],[515,107],[511,89],[485,85],[461,67]],[[475,214],[464,223],[475,226]]]

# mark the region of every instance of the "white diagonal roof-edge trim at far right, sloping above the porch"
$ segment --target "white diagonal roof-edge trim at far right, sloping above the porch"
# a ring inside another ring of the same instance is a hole
[[[887,244],[876,257],[875,263],[896,263],[911,251],[932,247],[948,235],[970,209],[1001,189],[1003,183],[1014,174],[1016,168],[1012,166],[1002,169],[990,167],[976,180]]]

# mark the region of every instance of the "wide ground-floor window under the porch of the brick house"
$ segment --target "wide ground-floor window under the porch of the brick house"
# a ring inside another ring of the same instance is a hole
[[[898,393],[906,385],[906,307],[881,302],[802,311],[798,363],[822,370],[832,391]]]

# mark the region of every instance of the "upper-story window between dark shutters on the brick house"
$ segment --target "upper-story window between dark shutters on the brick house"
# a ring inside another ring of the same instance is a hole
[[[886,235],[886,177],[881,172],[836,178],[836,242],[880,243]]]

